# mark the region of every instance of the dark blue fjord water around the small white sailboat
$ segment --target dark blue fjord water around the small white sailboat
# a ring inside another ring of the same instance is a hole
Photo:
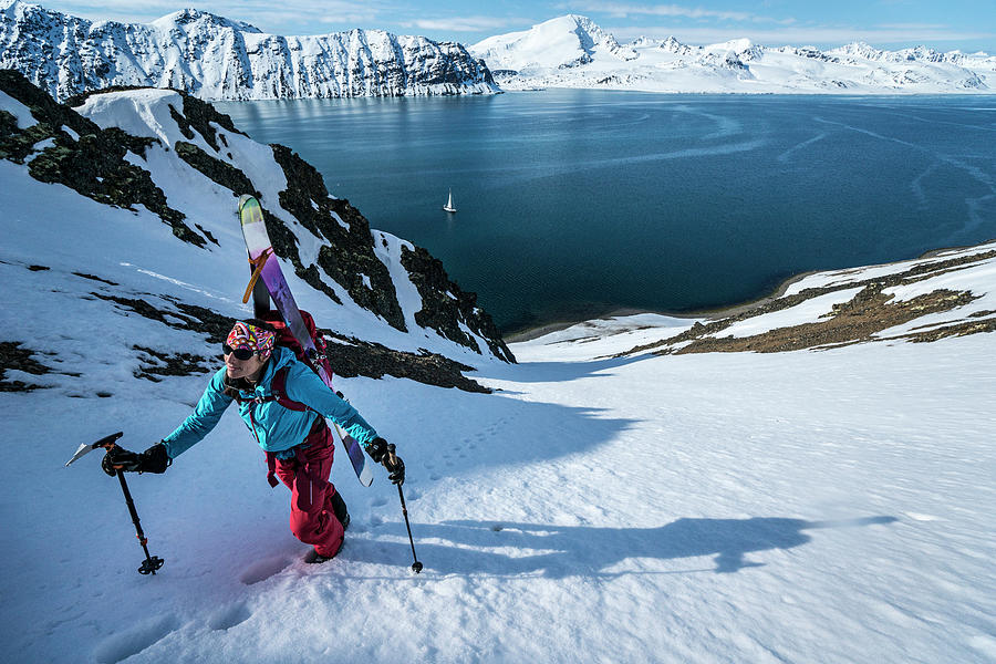
[[[506,332],[996,238],[996,97],[542,91],[216,103]],[[443,211],[453,189],[455,215]]]

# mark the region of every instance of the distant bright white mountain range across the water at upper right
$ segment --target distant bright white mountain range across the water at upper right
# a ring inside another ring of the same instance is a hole
[[[620,44],[569,14],[470,46],[506,90],[605,87],[654,92],[992,93],[996,56],[919,46],[768,48],[740,39],[707,46],[640,38]]]

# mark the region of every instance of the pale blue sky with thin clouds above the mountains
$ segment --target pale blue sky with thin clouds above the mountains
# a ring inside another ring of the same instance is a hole
[[[196,7],[273,34],[323,34],[353,28],[421,34],[467,45],[528,30],[546,20],[587,15],[621,42],[674,35],[691,44],[748,38],[780,46],[883,49],[924,44],[938,51],[996,54],[994,0],[42,0],[43,7],[93,20],[148,22]]]

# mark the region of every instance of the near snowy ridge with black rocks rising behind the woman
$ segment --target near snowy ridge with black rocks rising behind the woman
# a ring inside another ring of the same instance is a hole
[[[230,319],[247,315],[240,194],[256,194],[264,208],[299,303],[330,330],[336,373],[476,388],[460,375],[470,361],[513,361],[476,297],[438,260],[371,230],[297,154],[251,141],[206,102],[142,89],[93,95],[73,110],[0,70],[0,124],[4,235],[19,238],[4,242],[0,260],[14,272],[39,266],[32,308],[80,305],[56,302],[66,298],[105,308],[110,339],[123,342],[105,345],[136,375],[205,371]],[[193,286],[191,274],[207,278]],[[173,329],[170,341],[129,334],[136,314]],[[43,344],[69,370],[75,342],[37,322],[22,322],[17,338]],[[66,381],[75,390],[75,378]]]

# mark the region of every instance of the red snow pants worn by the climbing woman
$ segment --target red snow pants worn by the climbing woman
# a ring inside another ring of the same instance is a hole
[[[331,504],[335,487],[329,481],[335,452],[329,425],[319,417],[297,456],[278,459],[267,455],[271,473],[291,490],[291,532],[325,558],[335,556],[342,547],[342,523]],[[304,446],[307,449],[302,449]]]

